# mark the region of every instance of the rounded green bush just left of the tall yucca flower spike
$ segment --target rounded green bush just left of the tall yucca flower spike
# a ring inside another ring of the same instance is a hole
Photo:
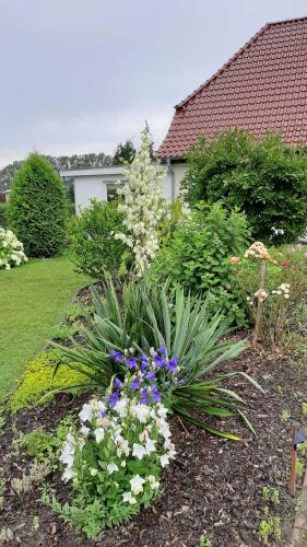
[[[105,271],[116,276],[125,245],[114,233],[122,231],[122,214],[117,201],[92,199],[91,207],[71,219],[69,225],[72,259],[79,272],[103,279]]]

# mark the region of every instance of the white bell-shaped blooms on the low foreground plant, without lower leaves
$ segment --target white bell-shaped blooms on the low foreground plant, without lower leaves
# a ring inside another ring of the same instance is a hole
[[[66,466],[63,480],[78,479],[78,462],[81,459],[84,464],[86,457],[83,456],[83,447],[88,442],[94,443],[97,467],[92,467],[90,475],[95,477],[102,467],[105,467],[106,476],[115,474],[115,481],[120,480],[120,475],[125,484],[122,501],[135,504],[135,496],[143,491],[145,484],[152,490],[156,490],[160,484],[152,474],[131,474],[128,462],[141,462],[154,455],[157,466],[165,467],[176,454],[166,416],[167,409],[163,404],[142,405],[123,393],[113,408],[107,407],[104,400],[90,400],[79,414],[80,431],[75,435],[68,433],[62,449],[60,461]],[[123,479],[122,473],[126,473]]]

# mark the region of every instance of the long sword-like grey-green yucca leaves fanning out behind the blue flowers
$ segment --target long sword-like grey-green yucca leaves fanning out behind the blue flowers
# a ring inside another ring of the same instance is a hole
[[[174,293],[144,281],[123,283],[120,292],[118,296],[111,281],[104,284],[103,300],[93,291],[96,313],[84,330],[86,345],[62,347],[62,361],[75,371],[87,366],[88,377],[107,387],[113,374],[123,377],[126,373],[122,364],[110,360],[111,349],[122,352],[134,347],[149,353],[152,347],[165,346],[167,356],[179,359],[184,382],[166,405],[208,431],[237,439],[203,420],[205,416],[239,415],[249,424],[241,410],[243,399],[221,384],[240,374],[259,387],[243,372],[211,375],[244,348],[244,342],[220,341],[229,329],[229,321],[221,314],[211,315],[209,299],[185,296],[180,288]],[[201,419],[196,418],[194,410]]]

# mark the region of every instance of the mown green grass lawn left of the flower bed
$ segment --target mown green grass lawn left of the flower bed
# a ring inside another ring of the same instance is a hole
[[[64,255],[0,271],[0,399],[52,336],[86,282]]]

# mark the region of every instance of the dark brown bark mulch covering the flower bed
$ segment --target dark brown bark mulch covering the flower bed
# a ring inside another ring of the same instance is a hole
[[[282,414],[287,410],[302,420],[302,403],[307,401],[307,366],[295,366],[281,357],[270,360],[248,349],[226,369],[249,373],[265,389],[263,395],[239,376],[229,383],[246,399],[247,415],[257,437],[239,419],[219,422],[225,430],[240,434],[241,441],[232,442],[173,417],[177,457],[163,474],[161,496],[128,524],[104,531],[95,542],[73,532],[37,501],[38,488],[17,496],[10,487],[10,480],[20,477],[29,465],[27,456],[12,452],[15,431],[28,432],[42,426],[50,430],[67,412],[78,411],[88,395],[75,398],[58,395],[47,407],[24,410],[14,418],[8,416],[0,439],[0,477],[5,478],[0,529],[11,528],[14,539],[5,545],[192,547],[200,545],[205,531],[213,547],[258,546],[259,523],[267,504],[263,486],[280,492],[280,504],[272,514],[281,517],[280,545],[288,545],[295,514],[295,503],[288,494],[292,426]],[[68,487],[60,475],[54,474],[47,480],[62,501]],[[37,531],[33,529],[34,516],[39,517]]]

